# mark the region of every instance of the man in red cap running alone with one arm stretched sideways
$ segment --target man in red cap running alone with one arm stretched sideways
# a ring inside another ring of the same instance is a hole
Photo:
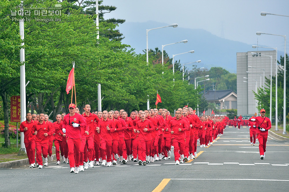
[[[268,130],[271,129],[271,121],[268,117],[265,117],[265,110],[260,110],[261,116],[250,118],[249,121],[256,122],[257,138],[259,141],[260,159],[265,158],[266,142],[268,137]]]

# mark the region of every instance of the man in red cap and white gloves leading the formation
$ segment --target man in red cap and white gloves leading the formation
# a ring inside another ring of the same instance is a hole
[[[81,130],[80,127],[86,128],[86,121],[83,116],[75,113],[75,104],[68,106],[69,114],[65,115],[62,122],[62,130],[66,133],[66,141],[68,145],[68,158],[70,172],[79,172],[79,158],[81,146]],[[88,131],[85,131],[88,134]]]

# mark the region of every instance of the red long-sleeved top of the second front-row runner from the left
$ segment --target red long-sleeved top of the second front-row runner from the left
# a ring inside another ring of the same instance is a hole
[[[37,135],[35,137],[35,142],[39,143],[48,143],[49,136],[53,134],[53,129],[50,123],[43,121],[42,124],[35,123],[31,129],[31,133],[34,135],[34,132],[37,131]],[[47,133],[47,136],[44,136],[44,133]]]

